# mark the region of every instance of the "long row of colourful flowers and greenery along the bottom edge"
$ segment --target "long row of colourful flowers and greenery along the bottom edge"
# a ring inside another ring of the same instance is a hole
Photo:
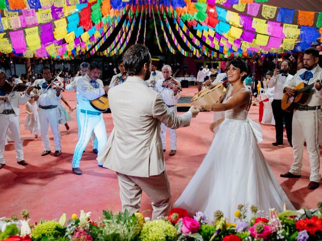
[[[103,211],[93,221],[91,212],[81,210],[79,217],[72,214],[66,223],[66,214],[58,221],[40,220],[29,225],[29,213],[23,210],[22,218],[0,218],[0,240],[7,241],[266,241],[322,240],[322,202],[316,209],[284,210],[270,215],[259,215],[258,208],[239,204],[235,222],[229,223],[220,210],[213,217],[202,212],[190,216],[188,210],[174,208],[169,216],[150,221],[142,213],[128,211],[113,214]],[[247,213],[252,213],[248,218]]]

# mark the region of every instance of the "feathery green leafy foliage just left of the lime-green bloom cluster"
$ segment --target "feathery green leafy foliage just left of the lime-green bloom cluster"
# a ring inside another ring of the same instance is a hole
[[[131,241],[137,234],[137,217],[125,210],[124,213],[113,214],[103,210],[102,227],[91,225],[89,233],[95,240]]]

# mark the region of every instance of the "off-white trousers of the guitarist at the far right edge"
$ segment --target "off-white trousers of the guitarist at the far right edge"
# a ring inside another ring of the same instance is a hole
[[[320,155],[318,150],[318,131],[321,110],[295,110],[292,122],[292,144],[294,161],[289,170],[294,175],[301,174],[304,141],[310,159],[310,181],[320,181]]]

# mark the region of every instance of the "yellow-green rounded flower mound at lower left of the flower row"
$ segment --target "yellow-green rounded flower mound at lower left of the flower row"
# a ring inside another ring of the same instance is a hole
[[[46,240],[46,238],[49,237],[59,238],[64,236],[64,233],[65,228],[62,227],[57,221],[47,221],[32,229],[31,236],[33,240],[37,241]]]

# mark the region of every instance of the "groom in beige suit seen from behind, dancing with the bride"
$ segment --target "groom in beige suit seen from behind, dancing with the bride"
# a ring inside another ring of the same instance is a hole
[[[152,201],[152,219],[166,216],[171,207],[170,183],[165,168],[160,125],[178,129],[190,125],[199,110],[191,106],[177,116],[162,96],[147,87],[151,55],[140,44],[131,46],[123,56],[127,80],[109,90],[114,129],[98,161],[116,171],[122,211],[138,212],[142,191]]]

